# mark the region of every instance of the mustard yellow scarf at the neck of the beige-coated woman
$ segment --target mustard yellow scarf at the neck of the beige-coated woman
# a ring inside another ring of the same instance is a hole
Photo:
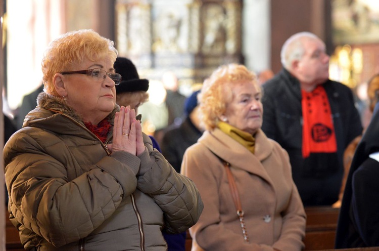
[[[254,153],[255,138],[253,137],[253,135],[244,132],[238,128],[235,128],[232,125],[223,121],[219,121],[217,127],[222,132],[229,135],[232,139],[245,146],[251,153]]]

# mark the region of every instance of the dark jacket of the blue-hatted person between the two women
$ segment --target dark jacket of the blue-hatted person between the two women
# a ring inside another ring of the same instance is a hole
[[[189,117],[186,117],[179,126],[175,125],[167,129],[162,139],[162,154],[176,172],[180,173],[185,150],[195,144],[202,134]]]

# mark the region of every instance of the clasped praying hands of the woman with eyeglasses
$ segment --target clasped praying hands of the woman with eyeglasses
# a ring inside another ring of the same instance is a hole
[[[138,156],[145,151],[141,124],[135,119],[135,110],[130,106],[121,106],[116,112],[113,127],[113,144],[110,151],[126,151]]]

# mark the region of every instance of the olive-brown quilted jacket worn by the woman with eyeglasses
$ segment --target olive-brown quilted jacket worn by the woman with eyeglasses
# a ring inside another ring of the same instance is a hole
[[[145,134],[144,143],[139,156],[110,153],[72,108],[41,93],[3,153],[10,219],[24,247],[166,250],[161,230],[185,231],[203,204]]]

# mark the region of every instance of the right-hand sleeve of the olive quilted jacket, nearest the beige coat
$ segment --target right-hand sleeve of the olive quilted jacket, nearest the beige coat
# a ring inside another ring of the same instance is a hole
[[[183,232],[195,225],[203,211],[203,201],[192,180],[178,174],[163,155],[153,149],[144,135],[146,150],[138,157],[141,166],[137,188],[149,194],[165,215],[166,231]]]

